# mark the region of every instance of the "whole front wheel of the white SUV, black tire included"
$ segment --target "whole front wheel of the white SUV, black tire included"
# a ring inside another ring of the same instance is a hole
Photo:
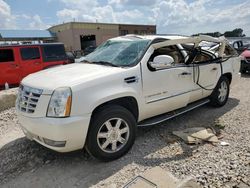
[[[91,119],[86,149],[102,161],[118,159],[133,146],[136,126],[135,117],[126,108],[104,106]]]

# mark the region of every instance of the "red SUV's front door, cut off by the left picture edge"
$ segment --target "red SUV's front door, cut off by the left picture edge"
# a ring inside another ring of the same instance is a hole
[[[21,81],[16,52],[16,48],[0,48],[0,87],[5,83],[16,85]]]

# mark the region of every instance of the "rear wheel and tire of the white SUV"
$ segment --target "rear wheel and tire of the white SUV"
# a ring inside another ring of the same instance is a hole
[[[215,107],[224,106],[227,103],[229,91],[229,80],[226,76],[222,76],[210,96],[210,104]]]

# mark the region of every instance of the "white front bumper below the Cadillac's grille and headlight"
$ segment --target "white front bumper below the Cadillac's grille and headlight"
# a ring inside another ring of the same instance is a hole
[[[27,138],[58,152],[82,149],[87,137],[90,115],[68,118],[31,118],[18,114]]]

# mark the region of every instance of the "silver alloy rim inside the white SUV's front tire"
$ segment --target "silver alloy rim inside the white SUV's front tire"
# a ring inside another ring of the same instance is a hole
[[[112,118],[100,127],[97,133],[97,143],[100,149],[114,153],[123,148],[129,138],[129,126],[121,118]]]

